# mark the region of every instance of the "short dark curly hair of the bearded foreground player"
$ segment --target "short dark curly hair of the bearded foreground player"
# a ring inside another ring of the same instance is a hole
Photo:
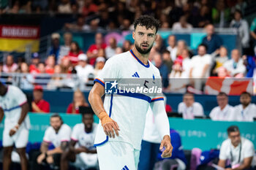
[[[137,18],[135,20],[134,24],[134,28],[136,29],[137,26],[146,26],[146,28],[151,28],[154,29],[156,28],[158,31],[158,28],[160,26],[159,20],[157,20],[156,18],[149,16],[149,15],[142,15],[139,18]],[[156,31],[156,34],[157,34]]]

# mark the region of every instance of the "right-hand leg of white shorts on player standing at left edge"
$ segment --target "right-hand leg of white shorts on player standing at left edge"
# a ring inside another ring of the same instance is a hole
[[[26,147],[29,141],[29,130],[25,127],[19,129],[18,134],[15,134],[15,147],[22,148]]]

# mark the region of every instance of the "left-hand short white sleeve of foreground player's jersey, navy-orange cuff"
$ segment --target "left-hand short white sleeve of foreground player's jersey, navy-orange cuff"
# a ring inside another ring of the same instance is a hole
[[[115,79],[118,78],[118,63],[116,61],[116,57],[112,57],[108,59],[105,63],[105,66],[102,69],[102,72],[99,73],[98,77],[94,80],[95,82],[99,82],[99,84],[105,87],[105,79]]]

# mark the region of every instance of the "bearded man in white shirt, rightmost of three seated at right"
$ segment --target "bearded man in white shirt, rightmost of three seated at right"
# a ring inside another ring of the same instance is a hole
[[[248,92],[241,93],[241,104],[237,105],[235,109],[234,119],[241,122],[252,122],[256,117],[256,105],[252,104],[252,96]]]

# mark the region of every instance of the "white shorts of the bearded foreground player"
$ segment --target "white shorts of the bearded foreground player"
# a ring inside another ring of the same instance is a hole
[[[140,150],[126,142],[108,141],[97,146],[100,170],[137,170]]]

